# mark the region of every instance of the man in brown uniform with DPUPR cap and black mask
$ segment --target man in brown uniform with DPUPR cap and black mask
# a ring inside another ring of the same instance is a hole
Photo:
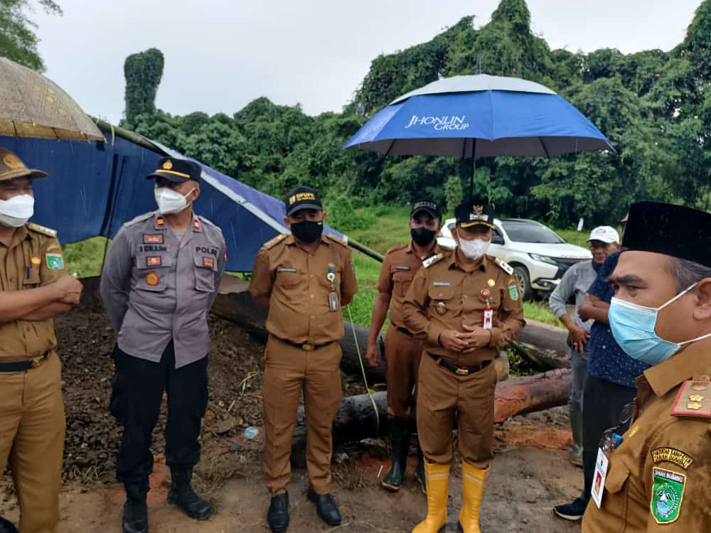
[[[341,307],[357,289],[348,246],[322,235],[326,213],[319,193],[297,187],[287,195],[286,206],[284,224],[292,233],[264,244],[250,285],[255,302],[269,308],[262,396],[264,475],[272,495],[267,520],[274,532],[289,526],[289,458],[301,392],[311,481],[308,497],[324,522],[341,523],[330,495],[331,430],[341,402]]]

